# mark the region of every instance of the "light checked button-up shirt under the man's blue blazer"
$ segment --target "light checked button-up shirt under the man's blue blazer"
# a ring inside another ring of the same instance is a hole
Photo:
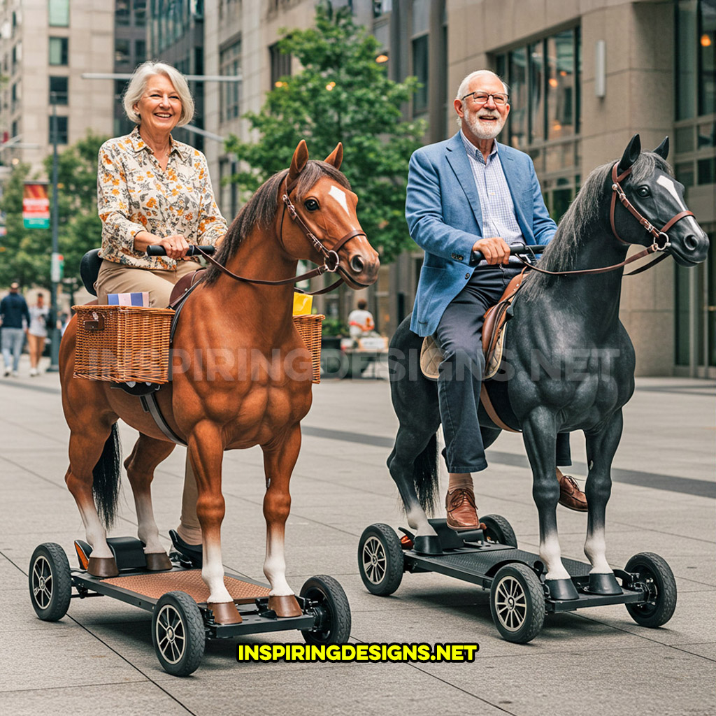
[[[515,205],[512,201],[510,188],[500,163],[497,151],[497,142],[493,142],[493,149],[485,162],[483,153],[465,137],[460,130],[465,151],[468,153],[470,167],[475,178],[475,187],[480,197],[480,210],[483,214],[483,237],[501,236],[506,243],[524,243],[525,238],[517,223]],[[510,263],[518,266],[521,262],[515,256]],[[487,266],[487,261],[480,261],[478,266]]]

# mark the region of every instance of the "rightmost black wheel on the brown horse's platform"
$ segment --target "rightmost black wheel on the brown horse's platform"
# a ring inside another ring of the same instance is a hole
[[[351,635],[351,608],[343,587],[326,574],[307,579],[301,596],[314,603],[317,623],[301,629],[306,644],[346,644]]]

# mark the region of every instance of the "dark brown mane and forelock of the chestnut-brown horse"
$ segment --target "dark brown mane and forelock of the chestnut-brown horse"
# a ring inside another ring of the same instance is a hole
[[[289,170],[284,169],[274,174],[241,207],[238,214],[236,214],[236,218],[231,222],[231,226],[229,226],[226,236],[214,257],[218,263],[221,263],[221,266],[226,266],[226,262],[238,251],[238,247],[241,246],[243,240],[254,228],[258,226],[258,228],[267,229],[274,223],[276,213],[279,211],[279,188],[281,188],[281,183],[283,183],[288,173]],[[321,176],[328,176],[348,190],[351,188],[345,175],[337,170],[334,165],[309,160],[299,175],[294,204],[303,200],[306,193],[309,192]],[[221,276],[221,270],[210,264],[206,271],[203,271],[203,274],[204,283],[211,285]]]

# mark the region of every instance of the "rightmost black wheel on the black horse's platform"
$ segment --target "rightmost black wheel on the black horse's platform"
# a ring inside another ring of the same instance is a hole
[[[637,575],[634,581],[646,584],[650,599],[642,604],[625,604],[629,616],[642,627],[655,629],[666,624],[676,609],[676,580],[667,561],[653,552],[635,554],[624,571]]]

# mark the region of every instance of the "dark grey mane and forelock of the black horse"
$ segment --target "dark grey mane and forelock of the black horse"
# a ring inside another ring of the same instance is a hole
[[[614,162],[602,164],[592,170],[586,178],[584,185],[561,218],[552,241],[549,242],[542,254],[539,262],[541,269],[546,271],[573,271],[576,269],[575,262],[579,248],[590,230],[599,222],[604,202],[611,199],[611,194],[605,196],[605,188],[613,166]],[[632,173],[621,184],[625,186],[642,183],[654,173],[654,170],[661,170],[672,175],[671,167],[658,154],[642,152],[632,165]],[[558,276],[547,276],[539,274],[537,271],[528,271],[521,294],[526,300],[538,299],[543,290],[556,279]]]

